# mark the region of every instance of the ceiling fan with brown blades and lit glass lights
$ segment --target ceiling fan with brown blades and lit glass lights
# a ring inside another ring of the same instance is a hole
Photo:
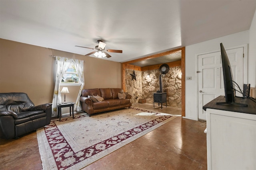
[[[105,49],[106,43],[102,42],[102,40],[98,40],[97,41],[99,43],[99,45],[96,45],[95,48],[90,48],[90,47],[82,47],[82,46],[78,46],[75,45],[75,47],[82,47],[82,48],[86,48],[86,49],[93,49],[95,51],[88,53],[86,55],[92,55],[94,54],[94,56],[98,57],[98,58],[102,58],[102,57],[111,57],[108,53],[106,52],[110,52],[110,53],[123,53],[122,50],[112,50],[112,49]]]

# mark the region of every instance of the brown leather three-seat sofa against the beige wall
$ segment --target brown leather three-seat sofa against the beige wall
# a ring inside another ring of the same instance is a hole
[[[130,99],[132,96],[126,94],[125,99],[119,99],[118,93],[124,93],[122,88],[94,88],[84,89],[81,92],[80,102],[82,109],[89,115],[99,113],[102,111],[109,111],[114,109],[121,109],[124,107],[131,107]],[[100,96],[104,98],[102,102],[93,102],[88,96]]]

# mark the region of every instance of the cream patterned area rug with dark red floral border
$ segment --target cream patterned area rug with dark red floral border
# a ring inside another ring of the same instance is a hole
[[[84,168],[175,117],[131,107],[51,121],[37,131],[43,169]]]

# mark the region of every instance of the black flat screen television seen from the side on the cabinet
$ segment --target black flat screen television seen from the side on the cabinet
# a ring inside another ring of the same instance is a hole
[[[226,102],[217,102],[216,104],[229,104],[238,106],[247,106],[247,104],[240,104],[235,102],[236,89],[233,87],[233,75],[231,70],[231,65],[228,59],[228,55],[222,43],[220,43],[221,61],[222,61],[222,71],[224,78],[224,90]]]

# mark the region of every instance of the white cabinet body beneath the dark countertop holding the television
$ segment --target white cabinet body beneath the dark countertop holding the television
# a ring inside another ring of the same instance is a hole
[[[256,169],[256,115],[206,109],[208,170]]]

